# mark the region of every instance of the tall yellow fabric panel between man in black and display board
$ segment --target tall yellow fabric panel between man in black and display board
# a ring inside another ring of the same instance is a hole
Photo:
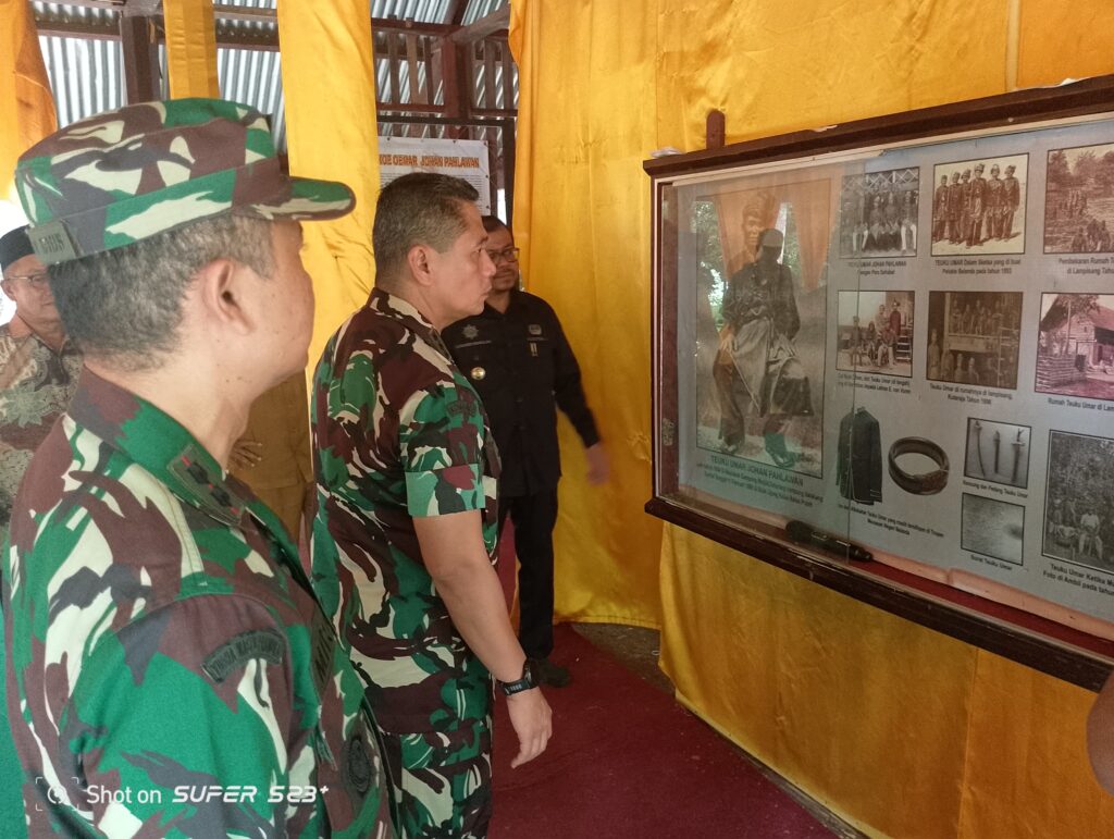
[[[657,625],[661,527],[642,513],[651,495],[649,191],[639,168],[655,147],[655,118],[632,99],[653,90],[654,17],[633,7],[620,28],[629,4],[510,8],[520,79],[515,238],[527,287],[561,319],[612,460],[609,484],[590,486],[580,441],[561,420],[557,613]]]

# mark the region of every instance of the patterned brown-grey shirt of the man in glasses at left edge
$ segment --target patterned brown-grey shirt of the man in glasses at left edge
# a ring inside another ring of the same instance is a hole
[[[69,406],[80,371],[69,342],[56,352],[18,316],[0,326],[0,542],[31,455]]]

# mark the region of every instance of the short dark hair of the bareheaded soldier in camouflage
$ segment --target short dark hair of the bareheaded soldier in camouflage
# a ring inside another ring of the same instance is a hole
[[[433,172],[413,172],[388,184],[379,194],[371,234],[375,284],[393,284],[414,245],[448,251],[467,230],[463,206],[477,198],[467,181]]]

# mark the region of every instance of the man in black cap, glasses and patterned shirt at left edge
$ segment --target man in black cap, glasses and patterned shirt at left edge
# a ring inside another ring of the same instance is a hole
[[[16,301],[0,326],[0,543],[11,503],[31,455],[62,416],[77,388],[81,353],[66,338],[47,269],[31,250],[27,227],[0,237],[4,294]]]

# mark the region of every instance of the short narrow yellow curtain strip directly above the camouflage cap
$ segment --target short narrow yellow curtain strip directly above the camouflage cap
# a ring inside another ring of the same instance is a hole
[[[218,98],[213,0],[164,0],[170,98]]]

